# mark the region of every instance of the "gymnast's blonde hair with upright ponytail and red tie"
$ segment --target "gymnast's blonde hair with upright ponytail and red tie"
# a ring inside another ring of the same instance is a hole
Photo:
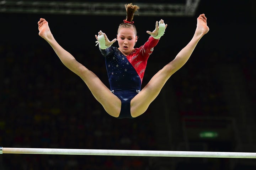
[[[137,35],[136,27],[133,24],[133,16],[134,13],[139,9],[139,6],[133,5],[132,3],[125,4],[124,6],[126,8],[126,19],[124,19],[124,22],[119,25],[117,34],[120,28],[133,28],[135,35]]]

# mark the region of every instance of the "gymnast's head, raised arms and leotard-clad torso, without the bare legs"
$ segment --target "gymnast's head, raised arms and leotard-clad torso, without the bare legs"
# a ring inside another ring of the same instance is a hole
[[[148,41],[134,49],[138,37],[133,16],[139,6],[130,3],[125,7],[127,16],[118,27],[116,39],[109,41],[102,31],[98,32],[98,36],[95,35],[100,51],[105,56],[110,90],[121,101],[118,118],[132,118],[130,101],[140,92],[147,60],[167,27],[162,19],[159,23],[156,21],[155,30],[147,31],[150,34]],[[116,40],[118,48],[111,46]]]

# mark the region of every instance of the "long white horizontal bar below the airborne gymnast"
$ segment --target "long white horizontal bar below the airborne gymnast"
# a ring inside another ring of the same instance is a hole
[[[139,151],[106,149],[49,149],[49,148],[2,148],[2,153],[13,154],[60,154],[60,155],[112,155],[148,157],[203,157],[203,158],[256,158],[250,152],[196,152],[196,151]]]

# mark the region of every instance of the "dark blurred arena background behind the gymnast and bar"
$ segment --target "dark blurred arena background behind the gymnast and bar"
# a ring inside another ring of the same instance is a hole
[[[136,47],[148,39],[146,30],[152,31],[155,21],[162,18],[168,24],[148,60],[143,86],[190,41],[199,14],[206,14],[210,28],[190,60],[135,119],[108,115],[38,36],[37,26],[45,18],[59,44],[108,86],[94,35],[102,30],[115,38],[125,16],[0,13],[0,145],[256,152],[255,11],[254,0],[201,0],[192,17],[135,16]],[[218,136],[202,138],[204,131]],[[1,169],[10,170],[256,168],[254,159],[240,158],[4,154],[0,162]]]

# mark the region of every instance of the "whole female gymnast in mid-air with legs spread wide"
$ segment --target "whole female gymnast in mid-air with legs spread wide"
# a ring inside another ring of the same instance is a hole
[[[135,11],[137,9],[135,9]],[[153,39],[151,38],[150,40],[149,38],[148,42],[143,45],[144,47],[140,47],[140,50],[138,51],[137,49],[133,49],[135,42],[137,41],[137,36],[132,19],[129,19],[129,16],[131,15],[127,15],[127,19],[125,20],[125,22],[128,22],[128,24],[123,24],[124,27],[119,26],[118,29],[117,40],[119,51],[113,47],[110,48],[116,39],[109,41],[106,34],[102,33],[101,31],[98,33],[98,36],[96,36],[101,52],[106,58],[108,77],[110,79],[110,84],[112,84],[111,89],[113,91],[108,89],[107,86],[104,85],[94,73],[76,61],[68,51],[64,50],[58,44],[50,32],[48,22],[45,19],[40,18],[38,21],[39,36],[41,36],[50,44],[50,46],[52,46],[62,63],[85,82],[96,100],[102,104],[105,111],[116,118],[135,118],[143,114],[148,108],[149,104],[158,96],[166,81],[187,62],[199,40],[209,31],[206,16],[204,14],[199,15],[197,18],[197,27],[191,41],[177,54],[174,60],[159,70],[159,72],[156,73],[153,78],[151,78],[149,83],[140,91],[138,80],[140,80],[141,84],[144,74],[143,67],[145,67],[146,64],[146,61],[144,60],[146,59],[143,59],[139,53],[143,52],[142,55],[144,55],[144,53],[149,52],[148,50],[151,50],[152,52],[153,49],[150,49],[150,47],[155,46],[157,44],[155,41],[158,40],[161,35],[163,35],[164,31],[160,34],[159,30],[160,25],[164,24],[164,21],[161,20],[159,22],[159,26],[157,22],[156,29],[153,32],[147,31],[147,33],[149,33]],[[164,26],[165,29],[166,25]],[[145,49],[147,49],[147,51],[145,51]],[[135,52],[137,52],[138,56],[141,57],[140,59],[136,58],[138,57],[137,55],[132,55],[132,53]],[[149,54],[151,52],[149,52]],[[108,56],[119,57],[118,59],[121,61],[116,61],[115,58],[112,58],[113,60],[108,60]],[[144,64],[140,65],[133,62],[136,59],[137,61],[143,60],[140,62],[140,64],[143,62]],[[122,60],[126,60],[126,63],[122,62]],[[119,62],[122,62],[123,65],[119,65]],[[127,66],[125,64],[127,64]],[[113,71],[111,72],[111,70]],[[126,72],[128,72],[129,75],[126,75]],[[116,73],[116,75],[118,74],[117,77],[112,77],[112,73]],[[120,78],[121,76],[127,79],[124,80],[123,78]],[[118,82],[112,82],[113,80],[117,80]],[[126,103],[126,101],[128,102]],[[128,112],[129,115],[127,115],[125,112]]]

